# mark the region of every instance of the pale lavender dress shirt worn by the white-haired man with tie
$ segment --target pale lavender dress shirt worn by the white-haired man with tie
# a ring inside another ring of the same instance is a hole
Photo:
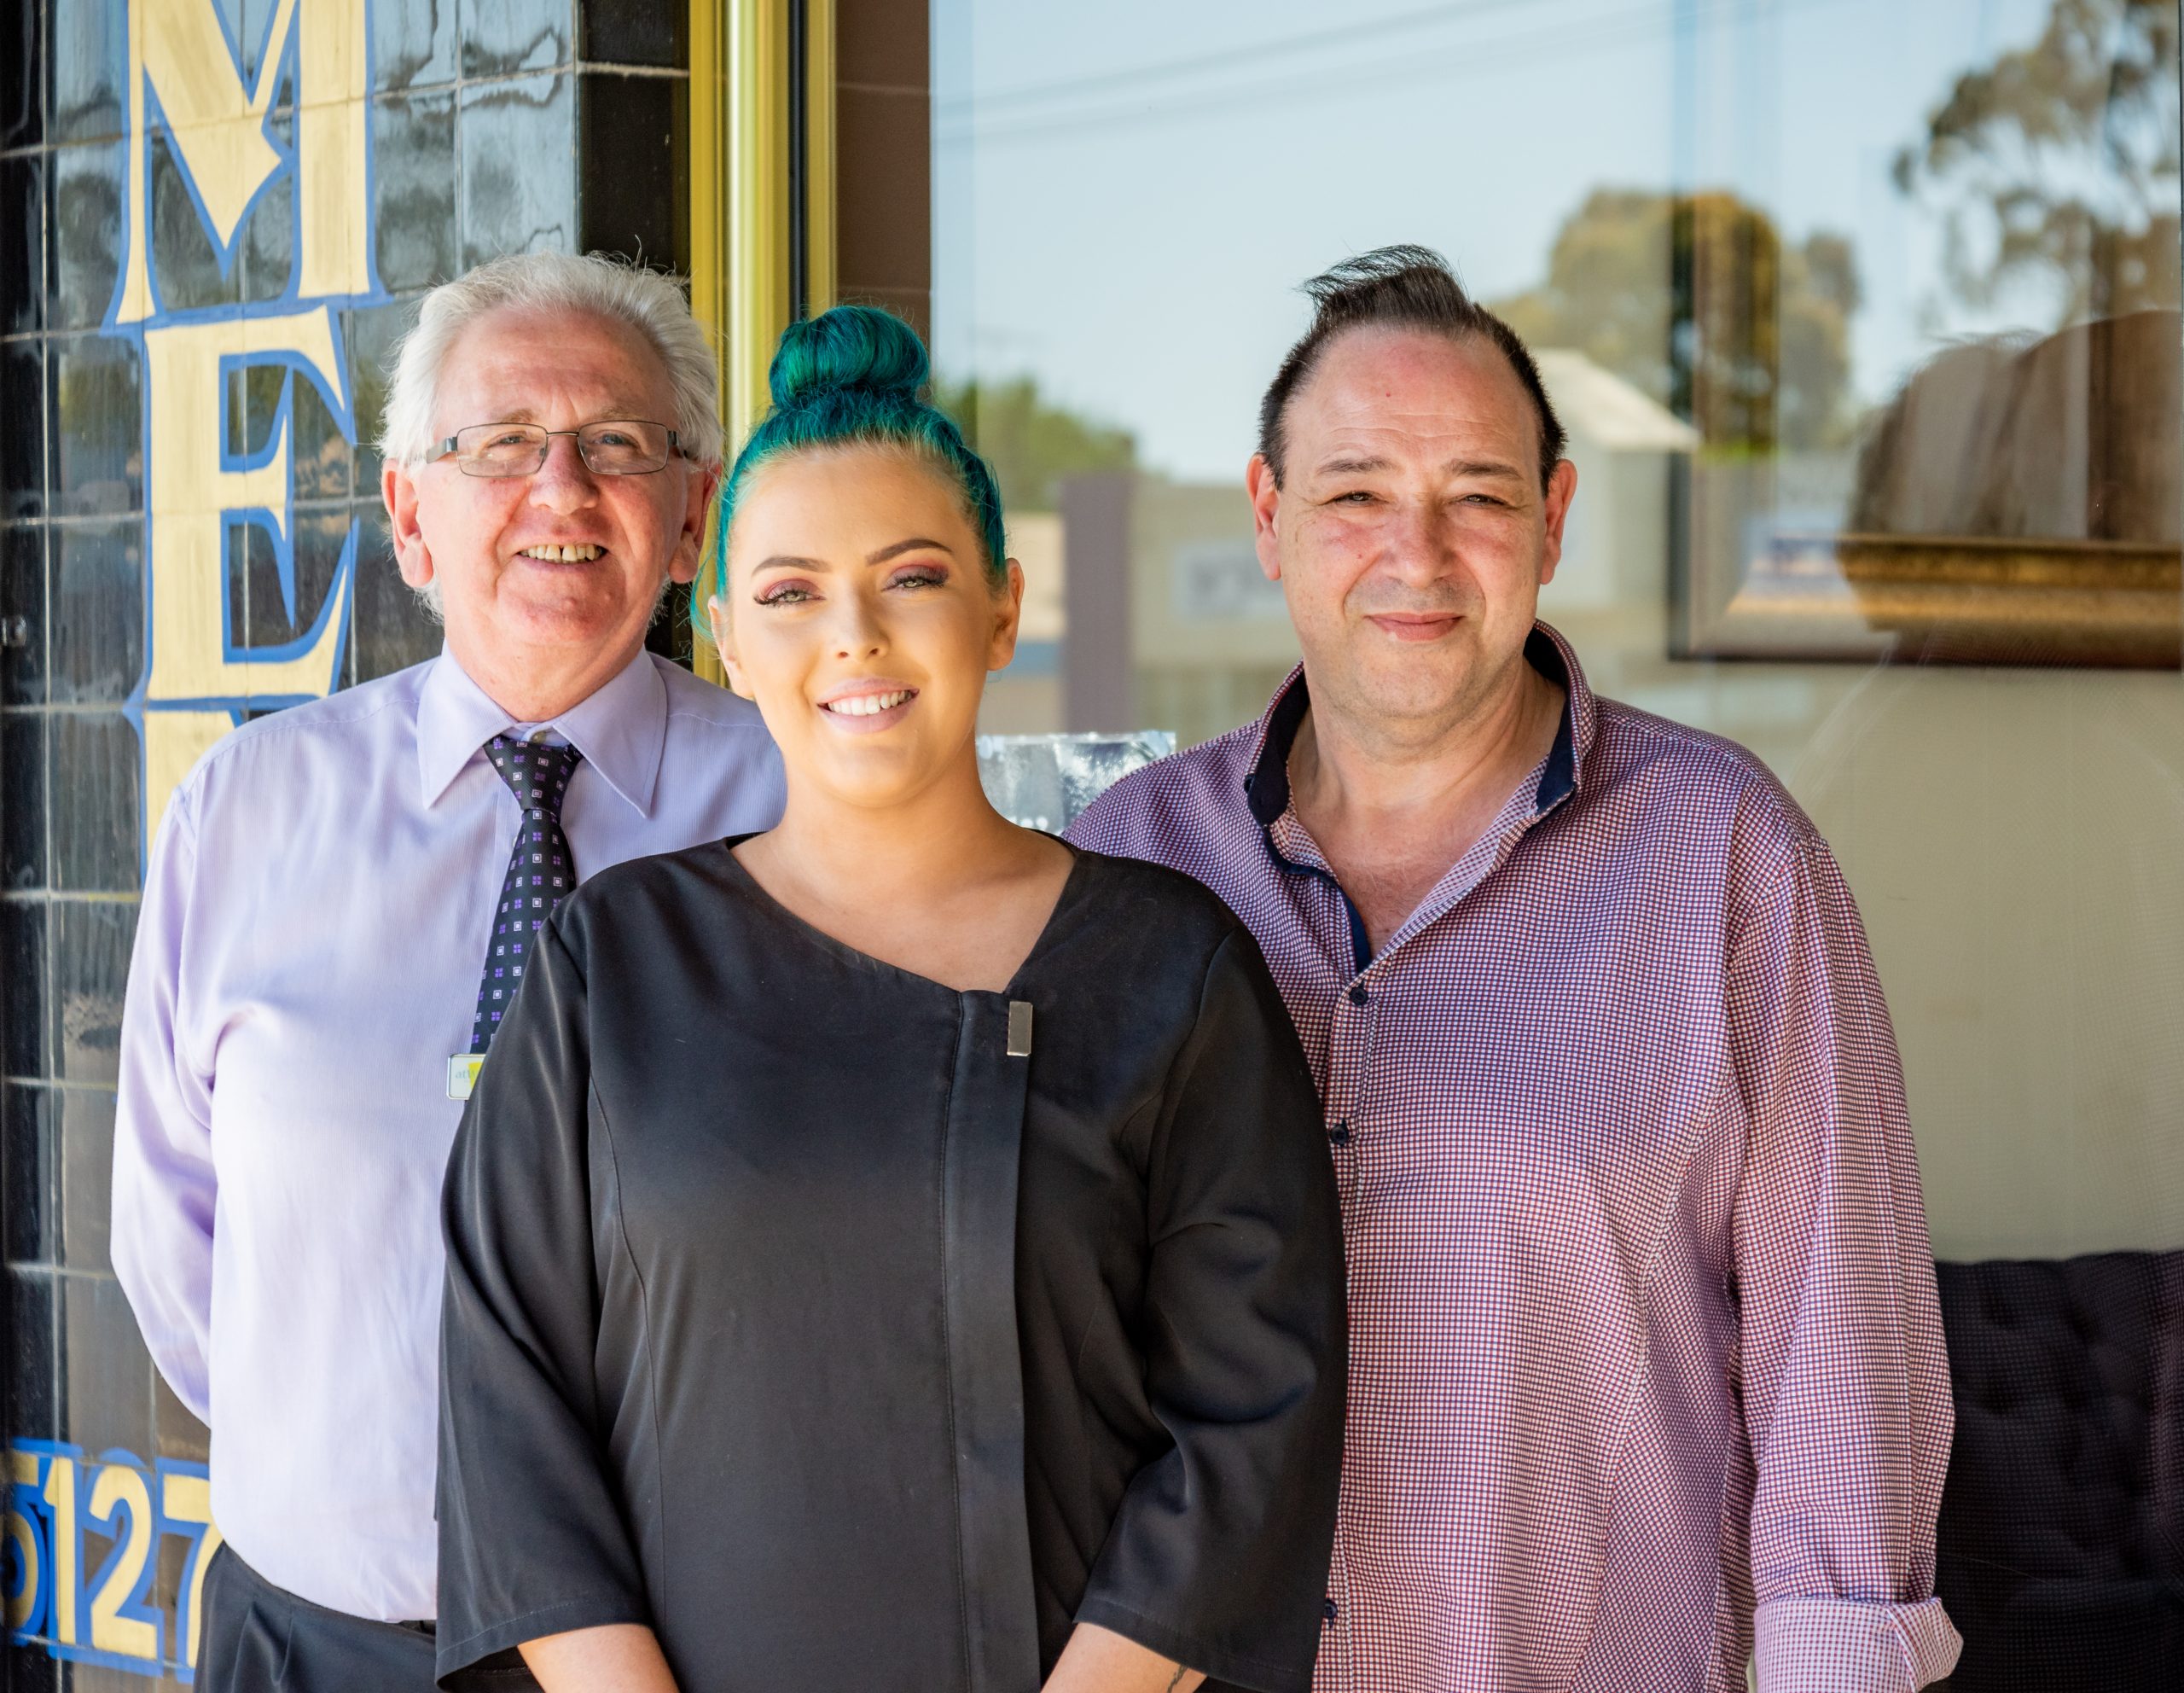
[[[439,1186],[515,795],[452,655],[266,717],[175,791],[122,1014],[114,1267],[212,1426],[212,1512],[266,1579],[435,1614]],[[579,876],[769,828],[758,712],[638,653],[537,732],[579,751]],[[539,1477],[539,1485],[553,1485]]]

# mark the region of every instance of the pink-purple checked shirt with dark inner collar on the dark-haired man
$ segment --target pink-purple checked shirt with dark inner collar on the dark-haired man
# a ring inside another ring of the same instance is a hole
[[[1321,1693],[1909,1693],[1950,1398],[1850,889],[1741,747],[1568,688],[1376,957],[1289,797],[1302,675],[1070,839],[1258,935],[1326,1101],[1350,1431]]]

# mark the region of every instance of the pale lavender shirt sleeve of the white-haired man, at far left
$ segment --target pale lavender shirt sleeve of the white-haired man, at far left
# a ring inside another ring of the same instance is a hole
[[[175,793],[144,867],[114,1116],[114,1274],[144,1346],[199,1422],[212,1418],[212,1070],[188,1049],[194,789]]]

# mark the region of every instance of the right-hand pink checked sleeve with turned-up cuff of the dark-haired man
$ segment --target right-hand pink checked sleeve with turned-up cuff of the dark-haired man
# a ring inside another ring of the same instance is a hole
[[[1911,1693],[1961,1645],[1933,1597],[1948,1357],[1896,1038],[1817,841],[1741,911],[1728,990],[1758,1686]]]

